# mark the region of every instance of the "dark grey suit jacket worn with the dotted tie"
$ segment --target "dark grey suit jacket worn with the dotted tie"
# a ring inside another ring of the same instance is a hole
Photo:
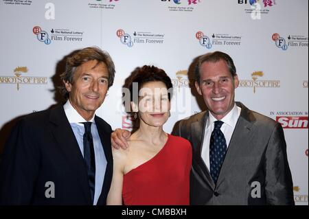
[[[209,112],[181,120],[174,127],[173,134],[188,139],[193,148],[191,204],[293,205],[293,182],[282,126],[237,104],[242,111],[216,185],[201,158]],[[258,192],[260,198],[253,198]]]

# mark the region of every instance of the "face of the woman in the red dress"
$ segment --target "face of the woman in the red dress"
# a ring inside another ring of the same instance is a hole
[[[139,91],[139,106],[131,102],[134,111],[138,111],[139,118],[144,124],[160,127],[169,117],[170,100],[168,89],[163,82],[147,82]]]

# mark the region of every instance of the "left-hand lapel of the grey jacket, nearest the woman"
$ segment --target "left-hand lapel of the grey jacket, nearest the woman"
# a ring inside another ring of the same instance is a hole
[[[201,157],[202,147],[203,147],[203,140],[205,136],[205,128],[206,128],[206,121],[208,118],[208,112],[205,112],[196,122],[192,122],[192,141],[193,141],[193,156],[194,160],[198,164],[198,168],[200,168],[205,176],[205,181],[209,184],[210,187],[214,188],[214,181],[212,180],[209,170],[205,165]]]

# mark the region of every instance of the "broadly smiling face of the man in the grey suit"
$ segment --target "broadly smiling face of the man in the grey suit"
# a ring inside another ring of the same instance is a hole
[[[196,90],[209,111],[220,120],[233,108],[235,89],[238,87],[238,76],[231,76],[227,62],[204,62],[200,69],[201,82],[195,83]]]

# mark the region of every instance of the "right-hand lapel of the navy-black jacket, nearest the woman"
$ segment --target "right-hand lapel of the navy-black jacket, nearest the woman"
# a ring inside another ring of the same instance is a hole
[[[111,185],[111,178],[113,176],[113,154],[111,152],[111,130],[105,130],[104,124],[95,116],[95,124],[97,125],[101,143],[103,146],[106,158],[106,171],[104,182],[102,185],[102,192],[100,194],[98,205],[106,205],[107,194]]]

